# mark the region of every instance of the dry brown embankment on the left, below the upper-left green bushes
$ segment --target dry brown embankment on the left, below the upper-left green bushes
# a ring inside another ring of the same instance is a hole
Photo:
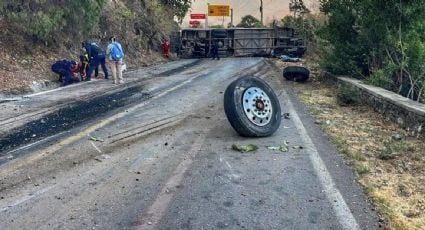
[[[78,60],[83,40],[106,48],[108,38],[116,36],[123,46],[128,68],[166,62],[160,54],[160,42],[176,30],[171,9],[158,7],[157,0],[107,1],[91,36],[63,32],[50,44],[17,32],[0,14],[0,95],[56,87],[57,76],[51,72],[51,64],[61,59]]]

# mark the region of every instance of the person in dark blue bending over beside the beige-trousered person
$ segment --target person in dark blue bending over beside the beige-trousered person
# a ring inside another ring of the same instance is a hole
[[[106,53],[101,49],[96,43],[91,43],[89,41],[84,41],[82,43],[83,48],[86,49],[87,55],[89,56],[89,68],[86,73],[86,80],[91,80],[91,74],[99,65],[102,66],[103,73],[105,74],[105,79],[108,79],[108,69],[106,68]]]

